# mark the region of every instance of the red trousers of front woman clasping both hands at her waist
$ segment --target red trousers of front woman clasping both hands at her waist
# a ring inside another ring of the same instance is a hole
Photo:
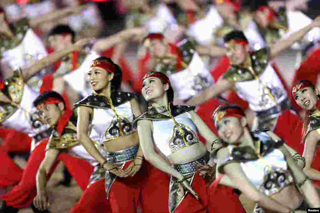
[[[126,169],[132,161],[126,162]],[[109,191],[109,199],[105,191],[105,181],[100,180],[90,185],[83,193],[80,201],[70,210],[70,213],[136,213],[140,201],[141,189],[147,181],[152,169],[150,164],[144,162],[140,170],[133,177],[118,178]]]

